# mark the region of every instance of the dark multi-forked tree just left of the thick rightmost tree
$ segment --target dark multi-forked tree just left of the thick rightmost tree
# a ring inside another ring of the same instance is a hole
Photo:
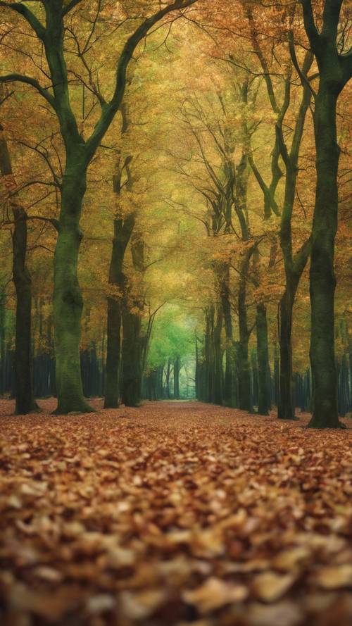
[[[270,212],[279,213],[275,195],[279,180],[282,177],[280,168],[281,161],[284,165],[284,198],[282,201],[282,211],[280,215],[279,242],[284,260],[285,287],[284,293],[279,302],[279,402],[278,417],[282,420],[294,420],[294,398],[293,398],[293,360],[292,360],[292,325],[293,325],[293,308],[296,298],[301,275],[310,255],[310,237],[303,242],[297,251],[294,251],[294,238],[292,235],[292,218],[294,204],[296,200],[296,187],[298,179],[298,162],[300,156],[301,143],[303,139],[303,131],[306,121],[306,114],[310,105],[311,87],[308,77],[308,71],[313,63],[313,56],[309,52],[306,54],[302,70],[298,69],[296,61],[296,53],[292,41],[292,32],[284,33],[289,39],[289,49],[291,51],[291,59],[287,61],[287,73],[283,77],[284,96],[282,104],[279,106],[278,95],[274,87],[272,75],[265,54],[258,39],[258,26],[253,16],[251,6],[245,7],[246,16],[249,20],[251,32],[251,41],[253,48],[258,56],[263,77],[268,92],[268,100],[272,112],[276,117],[275,123],[275,145],[272,151],[271,170],[272,180],[270,185],[265,184],[263,176],[260,174],[258,167],[250,156],[251,168],[256,180],[262,189],[264,196],[264,217],[268,219]],[[289,7],[287,18],[289,27],[291,28],[294,19],[294,9]],[[293,135],[291,145],[288,146],[287,139],[284,135],[284,123],[287,111],[289,110],[292,92],[292,70],[293,65],[297,65],[299,75],[304,77],[303,94],[301,96],[301,104],[298,111],[294,115]],[[281,161],[280,161],[281,159]],[[263,327],[263,325],[262,325]]]

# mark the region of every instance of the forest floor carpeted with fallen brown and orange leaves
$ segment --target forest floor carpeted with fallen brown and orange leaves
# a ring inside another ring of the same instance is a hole
[[[2,626],[352,623],[351,419],[94,406],[0,402]]]

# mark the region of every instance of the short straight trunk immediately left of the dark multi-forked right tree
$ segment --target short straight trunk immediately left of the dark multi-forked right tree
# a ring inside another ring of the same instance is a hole
[[[256,313],[257,358],[258,358],[258,413],[269,415],[270,401],[270,365],[268,349],[268,321],[266,306],[260,303]]]

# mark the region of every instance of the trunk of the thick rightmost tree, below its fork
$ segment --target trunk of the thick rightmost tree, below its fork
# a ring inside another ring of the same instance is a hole
[[[337,371],[334,351],[334,241],[337,232],[339,146],[336,128],[337,95],[320,85],[315,98],[317,189],[310,261],[313,374],[312,428],[338,428]]]

